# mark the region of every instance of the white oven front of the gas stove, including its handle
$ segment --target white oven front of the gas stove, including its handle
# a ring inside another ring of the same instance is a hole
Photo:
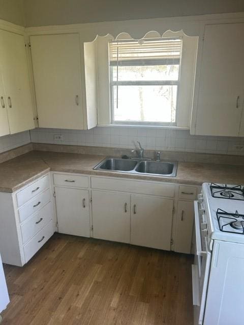
[[[194,305],[194,325],[203,324],[208,276],[210,270],[211,252],[208,248],[207,229],[202,215],[203,209],[199,208],[198,201],[194,202],[195,210],[195,259],[192,265],[192,289]],[[200,212],[200,213],[199,213]]]

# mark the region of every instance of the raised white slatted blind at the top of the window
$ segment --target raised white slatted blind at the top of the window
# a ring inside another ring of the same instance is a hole
[[[177,63],[180,59],[182,40],[180,38],[110,41],[110,66],[134,65],[135,61],[145,60],[148,64],[159,61]],[[136,64],[135,64],[136,65]]]

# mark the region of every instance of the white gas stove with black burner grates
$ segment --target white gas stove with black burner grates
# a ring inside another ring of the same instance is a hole
[[[203,183],[195,206],[194,324],[243,325],[243,185]]]

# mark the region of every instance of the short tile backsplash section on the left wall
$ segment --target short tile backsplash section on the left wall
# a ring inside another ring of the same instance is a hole
[[[23,146],[31,142],[29,131],[0,137],[0,153]]]

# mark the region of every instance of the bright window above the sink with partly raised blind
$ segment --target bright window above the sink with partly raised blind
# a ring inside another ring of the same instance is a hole
[[[182,39],[109,42],[111,123],[176,124]]]

